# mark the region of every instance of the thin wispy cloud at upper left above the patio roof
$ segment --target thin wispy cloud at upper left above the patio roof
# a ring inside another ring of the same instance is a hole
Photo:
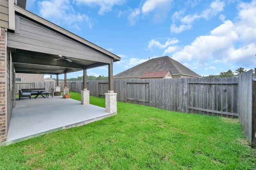
[[[40,15],[57,25],[65,24],[80,30],[78,24],[86,21],[89,27],[92,27],[90,18],[84,14],[76,13],[69,0],[43,0],[38,2],[38,5]]]

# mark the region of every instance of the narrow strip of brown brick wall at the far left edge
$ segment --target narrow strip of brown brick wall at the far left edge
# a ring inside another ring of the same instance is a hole
[[[6,44],[5,29],[0,29],[0,142],[3,142],[6,140]]]

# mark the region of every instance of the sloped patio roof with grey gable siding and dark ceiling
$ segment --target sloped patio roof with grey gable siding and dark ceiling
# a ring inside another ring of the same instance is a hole
[[[16,73],[58,75],[120,61],[117,55],[20,6],[14,9],[15,30],[8,32],[7,47]]]

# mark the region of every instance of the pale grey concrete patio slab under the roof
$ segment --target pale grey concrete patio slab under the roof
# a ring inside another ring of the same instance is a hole
[[[8,145],[52,131],[81,126],[115,115],[95,105],[81,105],[74,99],[38,97],[16,99],[12,110],[7,140]]]

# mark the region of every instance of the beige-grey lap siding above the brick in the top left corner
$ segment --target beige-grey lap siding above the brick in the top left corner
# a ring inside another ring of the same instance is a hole
[[[0,0],[0,27],[9,28],[8,0]]]

